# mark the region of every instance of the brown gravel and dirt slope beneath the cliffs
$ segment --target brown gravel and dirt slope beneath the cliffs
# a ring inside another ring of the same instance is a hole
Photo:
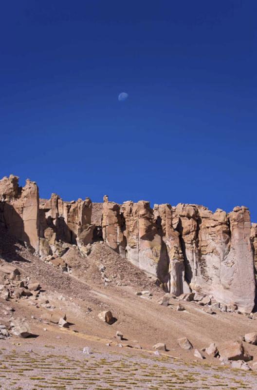
[[[192,360],[195,359],[193,352],[184,351],[178,346],[179,337],[186,336],[200,350],[211,342],[219,345],[256,331],[256,320],[238,313],[219,311],[210,315],[194,302],[183,302],[186,311],[178,312],[177,299],[172,299],[169,307],[159,305],[163,292],[154,282],[104,244],[94,244],[88,257],[82,257],[76,251],[68,252],[64,258],[72,267],[70,274],[46,264],[7,235],[5,238],[1,236],[0,249],[3,259],[12,260],[23,276],[40,282],[45,290],[40,295],[49,299],[56,309],[65,311],[69,322],[74,324],[71,329],[81,334],[115,341],[113,337],[119,330],[129,344],[137,341],[149,350],[155,343],[165,342],[170,351],[168,353]],[[105,273],[111,280],[107,285],[101,277],[100,264],[106,267]],[[146,288],[153,294],[150,299],[135,294]],[[1,305],[6,304],[15,307],[17,315],[26,317],[37,332],[38,328],[44,326],[38,318],[46,309],[34,306],[31,298],[18,302],[12,300],[10,303],[1,300]],[[103,310],[111,310],[117,318],[113,325],[99,320],[98,313]],[[35,319],[31,318],[32,315]],[[40,337],[46,337],[44,332]],[[73,336],[69,340],[73,343]],[[244,344],[257,358],[257,347]],[[208,361],[212,360],[208,358]],[[212,363],[219,362],[213,359]]]

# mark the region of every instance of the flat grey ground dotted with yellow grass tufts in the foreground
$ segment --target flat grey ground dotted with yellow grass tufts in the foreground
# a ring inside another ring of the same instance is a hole
[[[14,345],[16,344],[16,345]],[[0,344],[0,386],[4,390],[257,389],[257,372],[229,370],[165,354],[30,349]],[[236,375],[235,375],[236,373]]]

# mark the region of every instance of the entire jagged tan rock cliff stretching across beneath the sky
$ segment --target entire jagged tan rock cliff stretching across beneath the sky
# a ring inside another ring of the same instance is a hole
[[[120,205],[108,196],[103,203],[66,202],[55,194],[47,200],[34,181],[19,187],[13,175],[0,180],[0,199],[0,224],[43,259],[62,256],[67,244],[87,255],[103,240],[167,292],[211,294],[242,312],[254,307],[257,224],[246,207],[226,214],[194,204]]]

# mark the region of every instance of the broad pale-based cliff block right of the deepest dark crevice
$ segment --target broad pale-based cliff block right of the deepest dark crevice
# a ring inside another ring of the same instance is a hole
[[[227,215],[220,209],[212,213],[202,206],[178,205],[175,214],[191,290],[251,312],[255,281],[249,210],[235,207]]]

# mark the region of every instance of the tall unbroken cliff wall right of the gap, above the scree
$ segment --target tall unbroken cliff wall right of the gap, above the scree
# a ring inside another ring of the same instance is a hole
[[[249,210],[131,201],[104,203],[105,241],[147,273],[166,291],[210,294],[219,302],[251,312],[255,299]],[[121,251],[122,247],[122,251]],[[124,251],[125,248],[125,251]]]

